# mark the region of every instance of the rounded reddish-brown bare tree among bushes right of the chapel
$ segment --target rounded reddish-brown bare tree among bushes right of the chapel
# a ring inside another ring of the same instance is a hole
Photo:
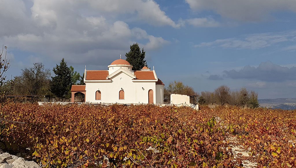
[[[221,106],[229,103],[230,100],[230,88],[226,85],[221,85],[217,89],[215,89],[215,97],[217,102],[221,104]]]

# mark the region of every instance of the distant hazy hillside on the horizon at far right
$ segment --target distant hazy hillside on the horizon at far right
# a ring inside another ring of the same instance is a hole
[[[296,98],[259,99],[261,107],[272,109],[296,110]]]

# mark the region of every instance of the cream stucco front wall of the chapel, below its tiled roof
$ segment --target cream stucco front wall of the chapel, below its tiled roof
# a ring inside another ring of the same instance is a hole
[[[109,73],[110,74],[110,73]],[[111,78],[111,82],[87,82],[86,102],[95,103],[148,103],[148,91],[153,90],[153,102],[156,103],[155,81],[136,81],[123,72]],[[143,88],[144,89],[143,89]],[[124,99],[119,99],[123,88]],[[96,91],[101,91],[101,100],[96,100]]]

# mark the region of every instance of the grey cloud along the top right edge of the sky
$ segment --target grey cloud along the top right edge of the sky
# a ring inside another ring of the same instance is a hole
[[[257,22],[266,20],[271,12],[296,12],[295,0],[186,0],[197,11],[212,10],[225,18]]]

